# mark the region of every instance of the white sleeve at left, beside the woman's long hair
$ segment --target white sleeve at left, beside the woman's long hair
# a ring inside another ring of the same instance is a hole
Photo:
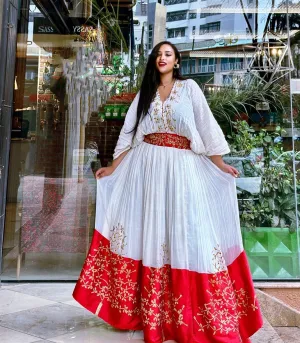
[[[118,158],[123,152],[129,150],[132,145],[133,135],[136,119],[137,119],[137,106],[140,98],[140,93],[138,92],[133,102],[131,103],[126,117],[124,125],[121,129],[117,145],[115,147],[113,158],[114,160]]]

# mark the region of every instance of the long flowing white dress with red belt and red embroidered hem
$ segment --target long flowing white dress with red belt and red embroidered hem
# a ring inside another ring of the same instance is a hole
[[[73,296],[115,328],[143,330],[146,343],[250,342],[262,318],[235,179],[209,159],[229,152],[223,132],[191,79],[176,80],[164,102],[157,92],[134,136],[138,100],[114,158],[129,152],[97,183],[95,231]],[[180,139],[145,142],[154,133],[186,137],[190,149]]]

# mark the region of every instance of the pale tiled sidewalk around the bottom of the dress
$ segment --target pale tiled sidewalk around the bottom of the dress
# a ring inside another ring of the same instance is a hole
[[[144,342],[141,332],[114,330],[83,309],[72,299],[73,288],[74,284],[70,283],[2,284],[0,342]],[[293,332],[289,328],[280,329],[284,330],[279,331],[279,334],[288,340],[280,339],[266,322],[265,327],[253,337],[252,343],[300,342],[297,341],[300,329],[292,328]]]

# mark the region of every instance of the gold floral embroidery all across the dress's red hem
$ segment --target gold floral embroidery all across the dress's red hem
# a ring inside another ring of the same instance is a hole
[[[122,226],[117,227],[112,231],[123,230]],[[124,236],[117,236],[123,242]],[[188,295],[189,290],[182,288],[186,294],[174,293],[178,285],[172,284],[169,264],[162,268],[142,267],[139,261],[113,253],[108,241],[100,239],[98,244],[98,248],[91,248],[79,279],[82,288],[99,297],[96,314],[100,314],[106,302],[119,313],[141,316],[144,328],[151,331],[163,331],[164,325],[188,327],[190,314],[189,311],[186,313],[187,299],[184,296]],[[162,244],[163,260],[166,256],[167,245]],[[213,262],[218,272],[208,276],[210,287],[203,296],[203,305],[194,315],[195,327],[199,332],[209,330],[214,335],[238,333],[239,319],[247,316],[250,310],[258,310],[256,298],[250,297],[243,288],[234,289],[234,281],[226,269],[219,247],[213,252]],[[139,288],[141,284],[143,286]]]

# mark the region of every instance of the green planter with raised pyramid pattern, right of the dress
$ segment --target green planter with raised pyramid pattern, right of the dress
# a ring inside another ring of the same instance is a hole
[[[288,228],[242,228],[244,248],[253,279],[299,277],[297,233]]]

